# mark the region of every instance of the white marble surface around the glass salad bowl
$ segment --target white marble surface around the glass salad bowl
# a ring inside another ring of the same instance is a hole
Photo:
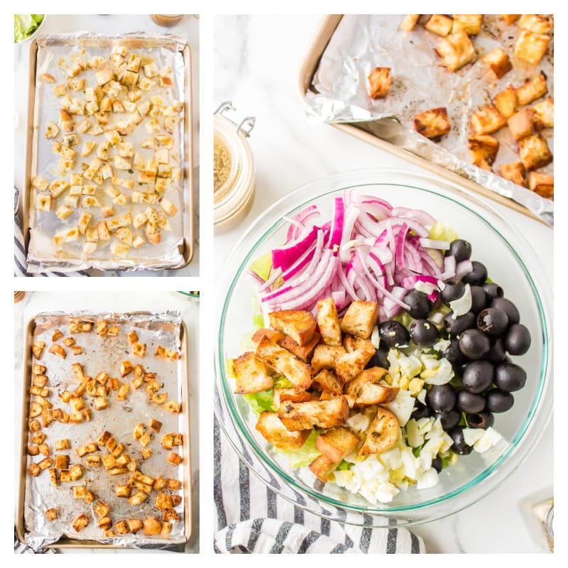
[[[256,197],[236,229],[216,234],[215,268],[266,207],[300,185],[359,168],[417,168],[331,126],[310,126],[296,92],[297,73],[320,16],[217,16],[214,21],[214,107],[230,100],[240,116],[256,116],[249,143],[256,161]],[[552,230],[496,206],[536,251],[552,281]],[[550,298],[552,305],[552,298]],[[522,468],[492,495],[445,520],[413,530],[427,552],[526,552],[533,542],[520,499],[552,488],[552,421]]]

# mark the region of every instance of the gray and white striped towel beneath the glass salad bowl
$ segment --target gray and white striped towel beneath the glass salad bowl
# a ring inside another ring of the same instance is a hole
[[[229,553],[423,553],[405,528],[361,528],[321,518],[278,496],[239,459],[214,419],[214,550]]]

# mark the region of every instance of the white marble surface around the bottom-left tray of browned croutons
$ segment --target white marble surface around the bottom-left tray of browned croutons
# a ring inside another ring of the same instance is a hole
[[[192,476],[192,535],[185,546],[185,552],[199,552],[200,542],[200,436],[199,436],[199,400],[200,400],[200,349],[199,349],[199,303],[173,292],[107,292],[104,295],[93,293],[53,293],[26,292],[23,300],[14,305],[14,391],[16,403],[14,408],[14,447],[20,447],[21,432],[21,392],[23,388],[23,342],[28,322],[40,312],[77,312],[89,310],[93,312],[163,312],[178,310],[187,327],[188,353],[187,365],[190,379],[190,452]],[[17,454],[17,450],[16,450]],[[16,486],[19,483],[18,461],[14,462]],[[18,491],[15,493],[17,498]],[[17,507],[15,508],[17,510]],[[89,554],[136,552],[122,549],[87,549]],[[68,554],[84,552],[85,549],[62,549]],[[144,551],[155,552],[155,551]]]

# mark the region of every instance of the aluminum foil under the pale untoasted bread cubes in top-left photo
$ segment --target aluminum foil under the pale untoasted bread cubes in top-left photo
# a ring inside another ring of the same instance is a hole
[[[60,139],[64,132],[60,132],[58,138],[46,139],[45,138],[45,122],[50,120],[61,126],[59,116],[60,98],[56,97],[53,93],[53,84],[46,83],[41,79],[44,73],[53,75],[56,84],[67,83],[67,69],[72,62],[77,58],[83,60],[90,60],[95,56],[103,57],[108,60],[111,55],[111,50],[114,45],[124,45],[129,49],[129,52],[137,53],[138,55],[148,55],[154,58],[155,64],[158,69],[163,67],[170,67],[172,73],[169,75],[172,79],[173,85],[170,87],[156,87],[150,91],[143,91],[141,99],[136,101],[136,104],[149,99],[151,96],[160,96],[165,105],[173,101],[187,100],[185,93],[185,62],[182,50],[185,48],[187,41],[183,40],[177,35],[163,35],[159,33],[145,34],[145,33],[126,33],[118,35],[99,35],[94,33],[75,33],[69,35],[48,35],[44,38],[38,39],[38,53],[36,60],[36,83],[35,83],[35,111],[34,111],[34,124],[33,124],[33,157],[31,168],[31,179],[35,175],[43,175],[49,182],[56,179],[70,180],[70,174],[62,176],[58,170],[60,156],[52,153],[51,147],[54,140]],[[140,73],[143,76],[142,69]],[[94,70],[87,69],[77,75],[77,79],[85,78],[87,80],[86,86],[96,87],[97,82],[94,79]],[[84,100],[82,92],[72,92],[67,89],[67,93],[72,97]],[[127,114],[109,113],[109,126],[116,124],[118,121],[128,119]],[[93,116],[87,116],[93,124],[97,121]],[[81,116],[74,115],[74,123],[77,124]],[[153,149],[141,148],[140,143],[146,138],[155,136],[153,133],[148,133],[145,125],[151,117],[144,117],[141,124],[129,136],[121,136],[121,141],[129,141],[133,143],[134,151],[139,153],[144,162],[153,158]],[[185,219],[185,206],[189,200],[189,192],[185,187],[185,176],[183,175],[185,164],[185,126],[184,121],[187,116],[181,114],[181,121],[178,124],[178,129],[173,134],[169,134],[163,129],[163,116],[160,115],[158,121],[162,126],[160,134],[168,134],[173,136],[175,146],[170,151],[170,165],[177,166],[182,169],[182,176],[180,181],[171,183],[171,190],[165,194],[168,201],[175,204],[178,208],[178,213],[173,217],[168,217],[168,222],[171,226],[171,231],[161,231],[160,244],[154,245],[146,243],[139,248],[131,248],[125,258],[113,257],[110,252],[111,241],[99,241],[99,246],[94,253],[89,254],[87,258],[82,254],[82,247],[84,239],[77,241],[67,241],[63,244],[62,248],[58,249],[55,245],[53,237],[58,231],[65,229],[72,229],[77,226],[83,211],[93,215],[90,226],[96,226],[97,222],[105,220],[102,217],[101,209],[97,207],[89,207],[82,209],[77,207],[75,211],[65,220],[59,219],[55,215],[55,208],[63,202],[64,195],[55,200],[55,207],[52,207],[50,212],[43,212],[35,210],[35,195],[36,190],[32,188],[30,194],[30,244],[28,248],[28,270],[32,273],[40,273],[45,271],[77,271],[87,268],[96,268],[99,270],[162,270],[164,268],[178,268],[184,263],[182,257],[182,244],[183,235],[185,234],[184,224],[187,222]],[[75,146],[77,157],[75,158],[75,167],[70,170],[70,173],[82,173],[82,164],[90,163],[91,160],[97,155],[95,148],[92,153],[86,158],[82,158],[81,149],[85,141],[94,141],[99,143],[104,141],[104,134],[99,136],[92,136],[87,133],[77,133],[79,137],[79,144]],[[117,154],[116,150],[111,149],[111,153]],[[173,155],[177,154],[174,159]],[[112,161],[109,161],[112,165]],[[134,180],[133,190],[147,192],[147,185],[138,185],[138,172],[131,170],[131,174],[127,170],[116,170],[114,168],[114,175],[122,178],[131,178]],[[88,180],[84,180],[84,185],[89,185]],[[111,197],[109,197],[104,190],[111,184],[111,180],[107,180],[102,185],[102,188],[97,189],[95,197],[99,202],[105,205],[111,205],[114,208],[115,217],[119,217],[130,212],[134,217],[138,212],[143,212],[147,204],[133,204],[129,199],[126,205],[113,204]],[[116,187],[121,193],[125,193],[130,197],[131,190]],[[161,208],[158,204],[152,205],[153,209],[160,211]],[[143,234],[144,227],[141,229],[133,229],[133,234],[141,231]],[[146,237],[145,237],[146,238]],[[102,246],[102,244],[105,246]]]

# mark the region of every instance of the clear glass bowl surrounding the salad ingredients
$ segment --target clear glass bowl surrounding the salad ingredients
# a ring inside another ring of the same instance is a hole
[[[506,441],[504,449],[461,456],[442,470],[435,488],[401,491],[391,503],[371,505],[364,498],[322,484],[309,469],[291,469],[255,429],[256,416],[242,396],[234,395],[225,364],[239,356],[243,341],[255,331],[253,297],[256,282],[247,273],[253,260],[285,242],[288,223],[308,204],[316,204],[331,218],[333,197],[350,187],[376,195],[395,207],[425,209],[471,242],[472,259],[482,261],[489,277],[520,311],[530,330],[532,345],[514,361],[527,371],[525,387],[516,392],[515,405],[496,415],[494,427]],[[538,281],[535,251],[513,226],[471,192],[425,175],[398,170],[359,170],[316,180],[275,203],[244,234],[229,255],[217,282],[224,304],[217,320],[219,342],[215,356],[215,413],[231,445],[251,471],[296,506],[325,518],[372,527],[414,525],[456,513],[479,501],[503,482],[527,457],[552,415],[551,324],[547,283]]]

